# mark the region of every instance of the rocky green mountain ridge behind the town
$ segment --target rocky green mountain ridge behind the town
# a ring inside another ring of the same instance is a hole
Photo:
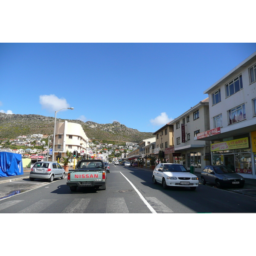
[[[151,132],[140,132],[128,128],[119,122],[112,124],[98,124],[96,122],[82,122],[81,120],[56,119],[56,122],[75,122],[82,126],[88,138],[118,142],[134,142],[154,137]],[[54,117],[41,115],[20,115],[0,113],[0,140],[15,139],[19,135],[53,134]]]

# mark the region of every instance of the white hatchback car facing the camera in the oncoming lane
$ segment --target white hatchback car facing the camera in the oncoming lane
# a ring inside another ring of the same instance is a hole
[[[198,186],[198,177],[190,173],[182,164],[160,163],[153,171],[153,182],[161,183],[164,189],[169,186],[190,187],[195,190]]]

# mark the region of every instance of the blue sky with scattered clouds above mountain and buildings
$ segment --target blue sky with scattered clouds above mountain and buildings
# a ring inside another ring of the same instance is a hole
[[[208,97],[204,90],[255,43],[1,43],[0,112],[154,132]]]

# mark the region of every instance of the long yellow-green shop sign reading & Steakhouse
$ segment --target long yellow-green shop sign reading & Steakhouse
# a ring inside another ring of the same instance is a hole
[[[238,148],[249,148],[249,140],[247,138],[228,140],[219,143],[211,144],[211,151],[222,151],[222,150],[231,150]]]

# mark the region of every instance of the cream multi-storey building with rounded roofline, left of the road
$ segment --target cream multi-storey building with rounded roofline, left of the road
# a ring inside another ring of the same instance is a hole
[[[80,155],[81,151],[86,152],[86,148],[89,148],[88,137],[80,124],[67,121],[56,123],[55,160],[65,157],[67,150],[77,150]]]

